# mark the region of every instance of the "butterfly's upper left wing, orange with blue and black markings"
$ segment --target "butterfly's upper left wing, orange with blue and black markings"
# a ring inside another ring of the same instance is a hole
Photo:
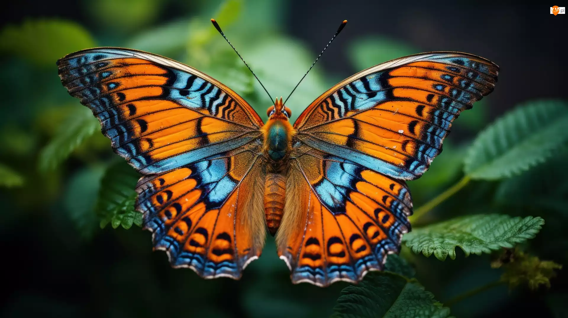
[[[260,135],[260,117],[239,95],[168,58],[95,48],[58,66],[69,94],[93,110],[115,152],[142,174],[176,169]]]

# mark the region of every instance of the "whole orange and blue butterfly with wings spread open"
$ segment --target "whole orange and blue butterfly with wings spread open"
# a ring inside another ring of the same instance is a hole
[[[396,58],[333,86],[291,124],[282,98],[263,123],[229,87],[152,53],[93,48],[57,65],[143,175],[135,207],[173,267],[239,279],[268,229],[293,283],[317,286],[356,283],[399,252],[411,229],[405,181],[428,169],[499,70],[459,52]]]

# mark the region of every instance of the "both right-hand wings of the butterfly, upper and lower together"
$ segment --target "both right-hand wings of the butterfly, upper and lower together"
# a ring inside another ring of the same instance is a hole
[[[407,56],[321,95],[294,123],[278,253],[294,282],[357,282],[410,231],[410,193],[454,119],[491,93],[498,66],[457,52]]]

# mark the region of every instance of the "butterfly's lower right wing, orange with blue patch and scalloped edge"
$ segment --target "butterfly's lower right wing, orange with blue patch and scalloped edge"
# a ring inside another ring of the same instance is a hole
[[[316,149],[292,154],[286,194],[276,239],[294,283],[360,281],[410,230],[404,182]]]

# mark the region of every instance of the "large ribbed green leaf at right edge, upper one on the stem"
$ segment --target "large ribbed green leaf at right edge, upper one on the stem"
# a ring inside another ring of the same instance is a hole
[[[565,101],[528,102],[479,133],[465,156],[471,179],[501,179],[528,170],[568,141]]]

